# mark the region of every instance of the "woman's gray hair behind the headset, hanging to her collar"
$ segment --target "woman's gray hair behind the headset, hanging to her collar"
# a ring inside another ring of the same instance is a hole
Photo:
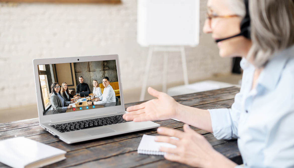
[[[252,47],[247,59],[264,67],[275,53],[294,44],[293,0],[250,0]]]

